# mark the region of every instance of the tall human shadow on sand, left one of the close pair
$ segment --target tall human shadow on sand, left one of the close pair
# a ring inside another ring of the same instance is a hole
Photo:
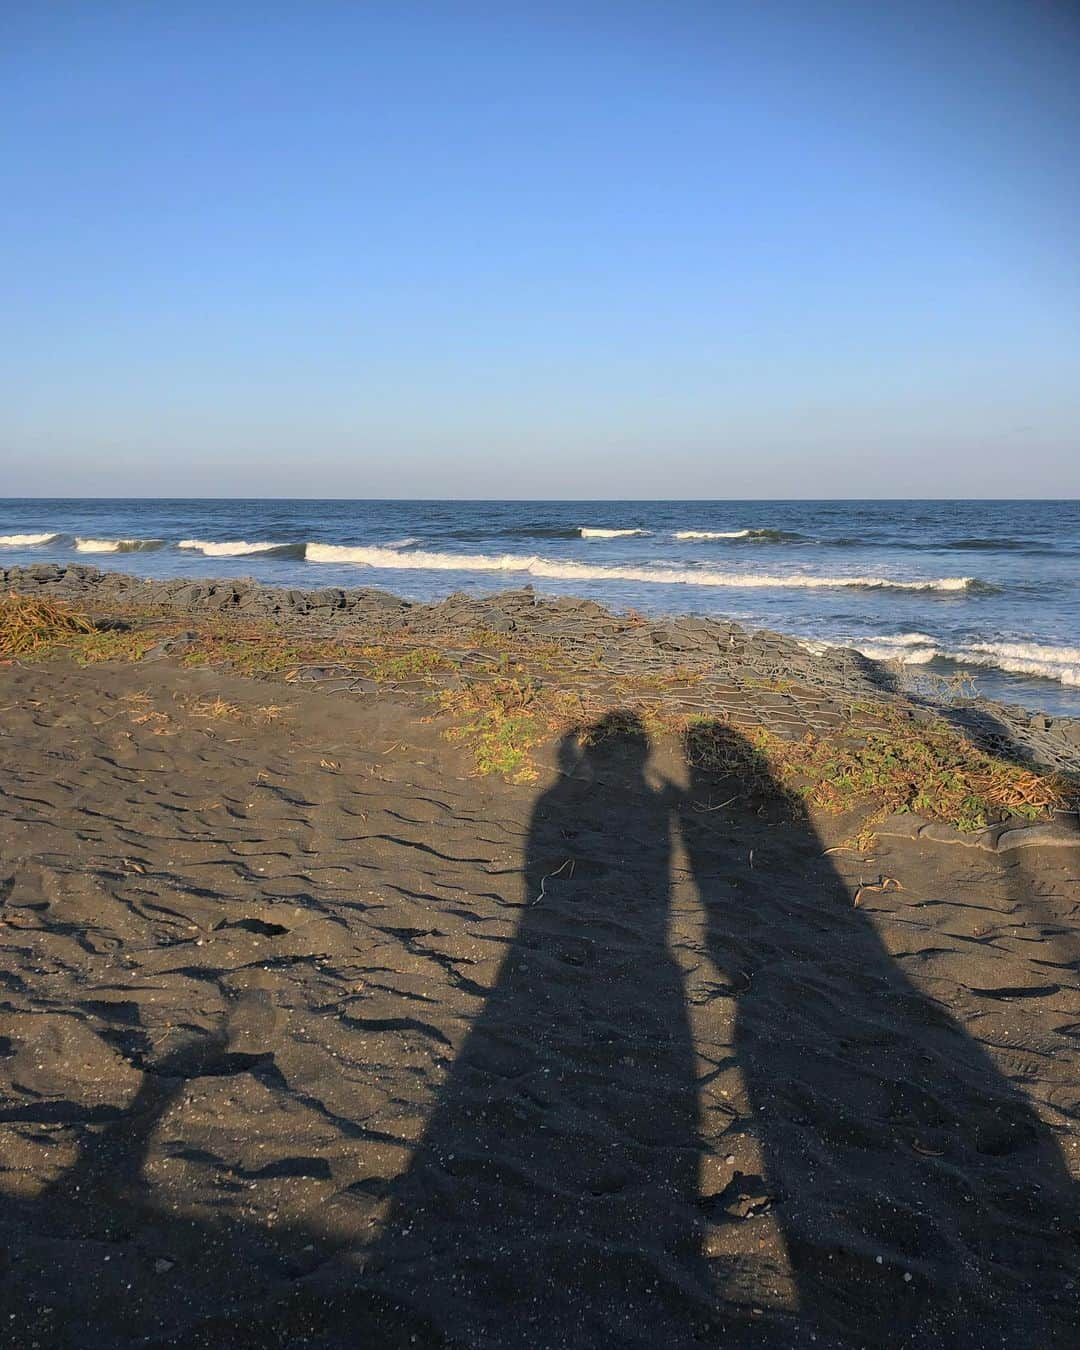
[[[625,716],[580,749],[563,741],[510,949],[369,1258],[371,1287],[455,1343],[683,1345],[707,1330],[670,795],[648,757]]]

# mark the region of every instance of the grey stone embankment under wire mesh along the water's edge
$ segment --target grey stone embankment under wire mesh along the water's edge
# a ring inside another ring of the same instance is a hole
[[[0,568],[0,590],[47,594],[78,605],[161,609],[193,617],[273,620],[293,633],[408,629],[418,639],[446,639],[478,629],[516,644],[558,645],[578,664],[656,678],[693,670],[742,693],[760,682],[791,683],[842,713],[852,699],[906,699],[946,713],[984,748],[1041,770],[1080,771],[1080,718],[1031,710],[981,697],[957,697],[949,682],[863,656],[853,648],[811,652],[802,640],[770,629],[698,616],[648,618],[617,613],[597,601],[544,597],[531,586],[490,595],[455,593],[435,602],[410,601],[373,587],[266,586],[250,578],[147,579],[86,564],[40,563]],[[772,691],[774,694],[776,690]],[[963,695],[963,682],[961,682]],[[761,702],[761,695],[757,701]],[[814,709],[798,706],[790,732],[824,729]],[[821,709],[817,709],[821,714]],[[825,725],[836,725],[826,718]]]

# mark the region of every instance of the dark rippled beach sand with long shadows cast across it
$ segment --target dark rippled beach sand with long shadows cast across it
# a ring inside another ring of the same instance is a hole
[[[0,670],[4,1346],[1076,1345],[1076,849],[427,711]]]

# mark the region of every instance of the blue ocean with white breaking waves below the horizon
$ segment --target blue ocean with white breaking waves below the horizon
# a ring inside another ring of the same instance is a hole
[[[417,599],[532,585],[1080,716],[1080,501],[0,500],[0,566],[40,562]]]

